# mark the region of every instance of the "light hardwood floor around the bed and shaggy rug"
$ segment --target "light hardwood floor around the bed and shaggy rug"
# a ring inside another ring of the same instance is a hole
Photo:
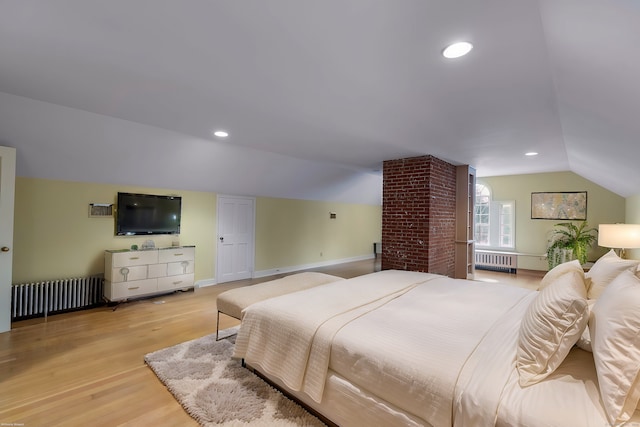
[[[376,260],[316,269],[349,278]],[[197,426],[145,354],[215,333],[220,292],[281,276],[225,283],[110,307],[30,319],[0,334],[0,425]],[[538,274],[478,272],[476,280],[535,288]],[[221,316],[220,328],[238,324]]]

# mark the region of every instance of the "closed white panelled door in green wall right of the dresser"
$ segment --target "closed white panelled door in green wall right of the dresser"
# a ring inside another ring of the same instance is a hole
[[[255,199],[218,196],[217,283],[253,275]]]

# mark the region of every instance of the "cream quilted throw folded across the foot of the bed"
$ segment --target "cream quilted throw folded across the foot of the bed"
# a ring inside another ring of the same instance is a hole
[[[320,402],[335,333],[349,321],[439,277],[388,270],[253,304],[244,311],[234,357]]]

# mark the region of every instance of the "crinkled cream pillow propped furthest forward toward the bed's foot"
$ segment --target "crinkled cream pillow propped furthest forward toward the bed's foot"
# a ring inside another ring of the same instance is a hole
[[[563,274],[542,289],[520,325],[516,356],[520,385],[535,384],[560,366],[588,320],[581,274]]]

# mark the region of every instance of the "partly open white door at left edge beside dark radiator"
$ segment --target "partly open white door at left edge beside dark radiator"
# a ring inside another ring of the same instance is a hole
[[[0,332],[11,329],[11,268],[13,262],[13,200],[16,149],[0,146]]]

